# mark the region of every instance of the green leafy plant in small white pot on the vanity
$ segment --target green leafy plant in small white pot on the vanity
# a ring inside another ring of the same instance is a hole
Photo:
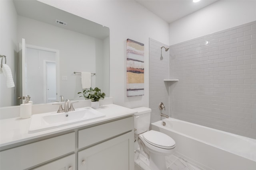
[[[101,92],[101,90],[96,87],[90,89],[85,89],[83,92],[78,92],[77,94],[83,94],[83,96],[79,97],[84,97],[85,99],[90,99],[92,101],[92,108],[98,109],[100,107],[100,99],[104,99],[106,94]]]

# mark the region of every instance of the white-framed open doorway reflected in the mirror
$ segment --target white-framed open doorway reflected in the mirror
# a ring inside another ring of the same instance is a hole
[[[58,51],[26,45],[26,95],[33,104],[56,102]]]

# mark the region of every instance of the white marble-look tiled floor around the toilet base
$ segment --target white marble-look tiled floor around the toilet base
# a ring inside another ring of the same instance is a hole
[[[140,160],[139,154],[139,150],[137,150],[134,155],[134,170],[151,170],[148,167],[148,162],[146,160],[144,162]],[[167,170],[204,170],[199,166],[192,165],[191,163],[186,161],[184,158],[181,158],[180,156],[175,156],[175,154],[166,156],[166,166]]]

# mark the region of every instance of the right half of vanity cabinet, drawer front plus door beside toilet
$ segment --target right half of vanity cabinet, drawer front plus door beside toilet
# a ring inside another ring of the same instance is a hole
[[[133,128],[128,117],[78,131],[78,170],[133,170]]]

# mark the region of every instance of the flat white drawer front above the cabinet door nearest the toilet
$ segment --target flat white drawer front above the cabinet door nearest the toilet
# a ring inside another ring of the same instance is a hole
[[[78,149],[134,129],[134,117],[105,123],[78,131]]]

